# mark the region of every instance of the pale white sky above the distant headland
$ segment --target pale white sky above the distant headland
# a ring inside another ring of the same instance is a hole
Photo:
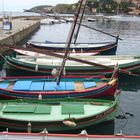
[[[0,11],[20,12],[38,5],[56,5],[75,3],[78,0],[0,0]]]

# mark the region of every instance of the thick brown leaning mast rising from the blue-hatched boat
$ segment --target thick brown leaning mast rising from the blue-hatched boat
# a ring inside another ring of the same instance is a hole
[[[57,85],[59,85],[61,77],[62,77],[62,73],[63,73],[64,66],[65,66],[65,63],[66,63],[66,60],[67,60],[67,57],[68,57],[70,45],[71,45],[72,39],[74,37],[74,32],[75,32],[76,24],[77,24],[77,21],[78,21],[78,19],[80,17],[80,12],[82,10],[81,8],[82,8],[82,5],[84,3],[86,3],[86,0],[79,0],[79,7],[78,7],[77,12],[76,12],[76,14],[74,16],[74,22],[72,23],[71,30],[70,30],[70,33],[69,33],[69,36],[68,36],[68,44],[67,44],[67,47],[65,49],[63,61],[62,61],[62,64],[61,64],[58,76],[56,78]]]

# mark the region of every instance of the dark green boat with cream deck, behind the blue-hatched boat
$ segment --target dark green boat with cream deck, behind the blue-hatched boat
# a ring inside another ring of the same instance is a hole
[[[111,56],[74,56],[75,58],[81,58],[93,63],[105,65],[108,67],[114,67],[118,63],[119,68],[134,73],[140,73],[140,57],[129,55],[111,55]],[[50,75],[52,71],[55,71],[60,64],[60,58],[49,56],[21,56],[7,57],[5,68],[13,69],[14,71],[33,72],[32,74]],[[109,74],[112,73],[111,69],[107,69],[100,66],[91,66],[88,64],[82,64],[80,62],[74,62],[67,60],[65,65],[65,72],[67,75],[81,75],[81,74]]]

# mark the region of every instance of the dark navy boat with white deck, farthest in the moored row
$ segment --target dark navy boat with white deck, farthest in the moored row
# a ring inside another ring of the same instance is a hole
[[[101,55],[116,54],[118,38],[115,42],[100,43],[76,43],[71,44],[70,52],[99,52]],[[52,52],[64,52],[66,43],[64,42],[28,42],[26,47],[45,49]]]

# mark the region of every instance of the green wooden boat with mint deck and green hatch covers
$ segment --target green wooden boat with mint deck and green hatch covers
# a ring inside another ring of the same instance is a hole
[[[115,101],[97,99],[1,100],[0,126],[26,132],[61,132],[113,120]]]

